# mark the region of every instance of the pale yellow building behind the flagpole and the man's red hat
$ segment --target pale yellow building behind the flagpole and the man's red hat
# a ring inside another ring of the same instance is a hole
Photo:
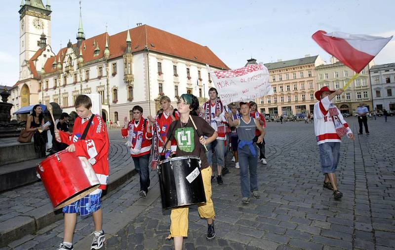
[[[332,57],[331,64],[316,67],[318,89],[323,86],[328,86],[330,89],[342,88],[354,74],[355,72],[352,69]],[[338,95],[333,99],[333,103],[342,113],[351,115],[353,115],[360,103],[372,110],[369,66],[366,66],[359,73],[342,95]]]

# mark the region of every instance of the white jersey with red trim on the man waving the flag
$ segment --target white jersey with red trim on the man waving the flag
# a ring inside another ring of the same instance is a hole
[[[326,96],[314,105],[314,130],[318,145],[325,142],[342,142],[340,136],[336,133],[333,116],[329,116],[329,106],[331,103],[329,97]],[[340,122],[347,128],[347,135],[353,133],[340,113],[340,110],[337,109],[337,111]]]

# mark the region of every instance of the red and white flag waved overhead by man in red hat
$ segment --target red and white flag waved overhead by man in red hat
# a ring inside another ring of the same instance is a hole
[[[359,73],[392,39],[343,32],[317,31],[312,38],[326,52]]]

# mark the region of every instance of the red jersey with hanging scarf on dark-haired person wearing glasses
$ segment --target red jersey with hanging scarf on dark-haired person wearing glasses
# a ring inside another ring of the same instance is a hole
[[[147,132],[148,121],[144,124],[141,117],[136,125],[134,120],[130,121],[126,128],[120,130],[123,138],[127,138],[126,145],[130,147],[130,155],[139,157],[151,152],[152,133]]]

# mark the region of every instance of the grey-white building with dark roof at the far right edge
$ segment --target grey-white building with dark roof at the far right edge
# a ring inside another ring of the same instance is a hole
[[[373,107],[379,111],[395,110],[395,63],[374,65],[370,68]]]

